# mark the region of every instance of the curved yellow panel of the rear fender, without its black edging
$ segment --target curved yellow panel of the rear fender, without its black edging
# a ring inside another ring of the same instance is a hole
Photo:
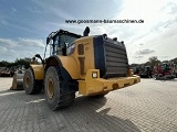
[[[73,79],[79,79],[79,65],[76,64],[73,56],[58,56],[62,62],[63,67],[69,72],[70,76]]]

